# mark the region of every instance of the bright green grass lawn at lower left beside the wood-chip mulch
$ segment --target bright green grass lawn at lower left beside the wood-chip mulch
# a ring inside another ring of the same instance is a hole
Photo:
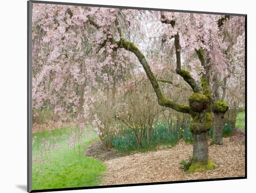
[[[50,144],[57,144],[60,148],[41,155],[43,135]],[[80,154],[77,155],[74,148],[68,148],[67,139],[70,132],[67,128],[54,129],[51,133],[45,131],[44,134],[33,134],[33,137],[37,137],[32,150],[33,159],[43,157],[45,163],[34,162],[32,164],[32,189],[98,186],[102,172],[106,170],[106,165],[101,161],[82,155],[84,148],[98,138],[93,131],[91,131],[91,135],[92,138],[89,138],[88,135],[82,137],[83,145],[76,146],[77,150],[80,148]],[[56,139],[52,140],[53,136]]]

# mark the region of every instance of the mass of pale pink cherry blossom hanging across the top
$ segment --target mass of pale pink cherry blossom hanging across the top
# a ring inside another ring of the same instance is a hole
[[[93,125],[102,135],[104,125],[95,104],[98,100],[108,100],[105,91],[115,89],[113,85],[118,85],[117,90],[129,88],[124,84],[125,73],[142,71],[131,52],[115,51],[116,45],[110,42],[100,47],[106,39],[120,39],[115,20],[125,39],[134,42],[145,54],[157,77],[162,73],[173,76],[166,70],[171,70],[168,66],[175,63],[171,37],[177,32],[182,68],[189,70],[196,80],[205,73],[195,57],[195,49],[200,48],[209,53],[211,78],[215,73],[235,76],[234,80],[243,76],[243,17],[230,16],[218,27],[222,15],[172,12],[164,15],[175,19],[174,28],[161,23],[160,12],[33,4],[33,109],[54,109],[54,121],[76,119],[80,128]],[[100,28],[90,24],[89,19]],[[78,133],[72,135],[73,140],[75,135]]]

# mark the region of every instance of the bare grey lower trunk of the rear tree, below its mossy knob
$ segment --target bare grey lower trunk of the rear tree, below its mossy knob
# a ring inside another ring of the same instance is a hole
[[[212,142],[214,144],[222,145],[222,127],[224,125],[224,113],[214,113],[214,122],[213,122],[213,137]]]

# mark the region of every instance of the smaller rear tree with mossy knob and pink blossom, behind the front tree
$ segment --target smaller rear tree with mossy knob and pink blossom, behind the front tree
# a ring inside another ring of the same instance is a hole
[[[242,19],[242,20],[240,20]],[[235,22],[236,20],[236,22]],[[216,73],[213,77],[213,112],[214,112],[214,130],[213,130],[213,139],[212,144],[221,145],[222,142],[222,128],[224,125],[224,116],[228,111],[229,106],[225,102],[226,90],[227,90],[227,81],[230,76],[233,77],[243,77],[245,60],[244,60],[244,49],[245,46],[239,46],[240,53],[236,64],[231,61],[238,56],[237,54],[232,54],[233,50],[236,49],[236,42],[243,37],[244,34],[244,21],[243,18],[237,18],[233,16],[222,16],[218,20],[219,33],[223,37],[223,42],[227,43],[227,48],[224,49],[223,56],[226,59],[227,69],[224,73]],[[242,37],[241,37],[242,36]],[[244,39],[243,39],[244,42]],[[231,59],[231,60],[230,60]],[[240,73],[235,71],[239,69]],[[244,84],[244,82],[243,82]],[[222,94],[221,94],[222,93]]]

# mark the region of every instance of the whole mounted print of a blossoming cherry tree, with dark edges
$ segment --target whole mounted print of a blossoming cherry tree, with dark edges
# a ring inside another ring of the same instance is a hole
[[[246,15],[27,3],[28,192],[247,178]]]

